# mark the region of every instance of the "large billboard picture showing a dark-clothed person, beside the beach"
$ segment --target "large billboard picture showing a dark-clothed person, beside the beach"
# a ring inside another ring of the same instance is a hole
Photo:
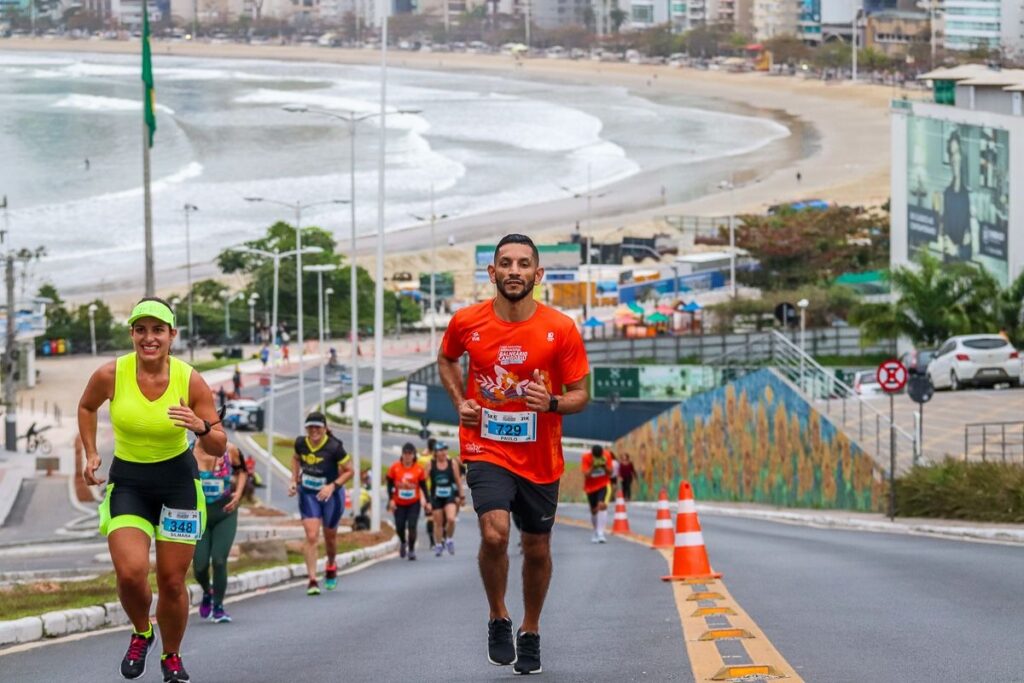
[[[1010,135],[907,117],[907,259],[925,251],[1009,278]]]

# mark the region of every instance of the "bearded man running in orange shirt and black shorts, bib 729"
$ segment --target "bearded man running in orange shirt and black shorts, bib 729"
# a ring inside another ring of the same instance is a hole
[[[456,312],[437,366],[459,412],[461,456],[480,521],[487,659],[541,673],[541,609],[551,582],[551,527],[562,475],[562,415],[590,396],[583,339],[567,316],[532,297],[544,276],[532,240],[507,234],[487,266],[497,296]],[[459,358],[469,354],[464,381]],[[505,606],[509,513],[522,538],[524,613],[513,641]]]

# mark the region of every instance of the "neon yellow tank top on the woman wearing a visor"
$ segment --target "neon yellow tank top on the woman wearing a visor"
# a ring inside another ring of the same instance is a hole
[[[157,400],[150,400],[135,379],[135,353],[118,357],[114,374],[114,398],[111,399],[111,423],[114,426],[114,455],[133,463],[159,463],[170,460],[188,447],[185,430],[175,427],[167,409],[179,399],[188,403],[188,380],[191,366],[170,358],[170,381]]]

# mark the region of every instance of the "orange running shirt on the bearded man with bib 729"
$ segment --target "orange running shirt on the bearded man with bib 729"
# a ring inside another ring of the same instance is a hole
[[[495,314],[494,302],[484,301],[456,312],[449,323],[441,353],[458,359],[469,353],[466,398],[475,398],[496,413],[529,414],[526,385],[534,371],[541,371],[548,391],[561,395],[564,385],[590,373],[587,349],[575,324],[542,303],[522,323],[506,323]],[[551,483],[562,476],[562,416],[537,413],[536,440],[505,441],[482,434],[480,426],[459,428],[459,454],[466,462],[486,462],[535,483]],[[511,417],[511,416],[510,416]],[[519,418],[530,417],[522,416]],[[492,421],[494,426],[495,421]],[[518,428],[520,425],[515,425]]]

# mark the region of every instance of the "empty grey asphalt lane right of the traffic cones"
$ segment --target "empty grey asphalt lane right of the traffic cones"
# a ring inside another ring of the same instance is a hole
[[[589,519],[583,506],[562,514]],[[1022,681],[1024,548],[700,519],[712,565],[807,681]],[[630,509],[650,535],[654,511]]]

